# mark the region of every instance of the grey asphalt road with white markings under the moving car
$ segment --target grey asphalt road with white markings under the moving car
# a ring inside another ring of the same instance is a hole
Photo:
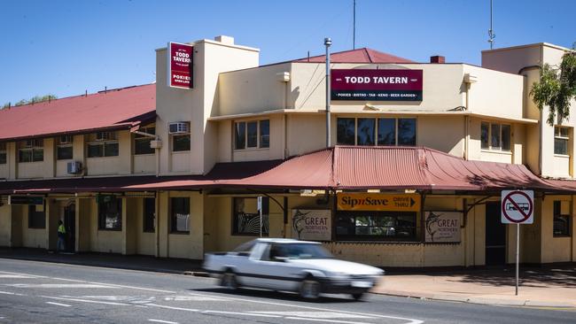
[[[576,312],[369,295],[362,302],[214,279],[0,259],[0,323],[576,323]]]

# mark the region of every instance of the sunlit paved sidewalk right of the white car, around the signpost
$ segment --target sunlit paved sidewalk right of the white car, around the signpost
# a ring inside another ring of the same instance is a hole
[[[521,270],[518,296],[515,283],[512,268],[391,274],[372,292],[473,304],[576,308],[576,265]]]

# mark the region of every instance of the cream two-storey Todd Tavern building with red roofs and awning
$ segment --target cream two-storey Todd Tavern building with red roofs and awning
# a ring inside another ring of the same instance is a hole
[[[503,265],[501,192],[532,189],[520,262],[576,260],[575,122],[549,126],[528,96],[567,49],[333,53],[327,148],[325,57],[188,45],[169,79],[161,48],[153,84],[0,111],[0,245],[54,250],[64,220],[77,252],[201,259],[262,233],[374,266]]]

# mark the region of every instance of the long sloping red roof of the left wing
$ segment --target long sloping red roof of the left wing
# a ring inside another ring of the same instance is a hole
[[[129,128],[156,119],[156,85],[69,96],[0,111],[0,140]]]

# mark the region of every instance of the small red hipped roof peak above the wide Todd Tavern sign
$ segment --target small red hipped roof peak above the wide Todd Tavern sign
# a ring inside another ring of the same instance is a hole
[[[331,63],[415,63],[408,58],[400,58],[392,54],[367,48],[331,53],[330,60]],[[326,55],[319,55],[310,58],[295,59],[292,62],[322,63],[325,61]]]

